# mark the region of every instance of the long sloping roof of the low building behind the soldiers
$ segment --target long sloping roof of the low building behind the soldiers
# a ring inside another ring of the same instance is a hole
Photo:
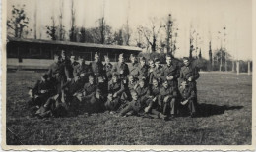
[[[42,39],[23,39],[8,37],[9,42],[27,42],[27,43],[40,43],[40,44],[53,44],[53,45],[70,45],[70,46],[81,46],[81,47],[92,47],[92,48],[107,48],[107,49],[119,49],[119,50],[132,50],[141,52],[142,49],[134,46],[123,46],[123,45],[105,45],[96,43],[79,43],[69,41],[57,41],[57,40],[42,40]]]

